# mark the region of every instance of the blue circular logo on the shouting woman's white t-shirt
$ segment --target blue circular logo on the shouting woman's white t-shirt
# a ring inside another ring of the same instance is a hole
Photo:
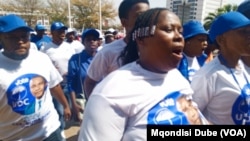
[[[148,112],[148,124],[182,125],[189,124],[186,116],[178,109],[180,92],[168,94]]]

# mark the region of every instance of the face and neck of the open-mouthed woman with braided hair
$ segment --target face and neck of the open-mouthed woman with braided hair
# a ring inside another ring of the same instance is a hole
[[[182,31],[178,16],[167,10],[162,11],[154,35],[137,39],[141,65],[157,73],[176,68],[184,47]]]

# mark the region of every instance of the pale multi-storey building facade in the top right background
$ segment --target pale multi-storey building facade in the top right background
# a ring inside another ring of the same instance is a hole
[[[177,14],[182,23],[195,19],[204,23],[209,13],[228,4],[227,0],[167,0],[167,8]]]

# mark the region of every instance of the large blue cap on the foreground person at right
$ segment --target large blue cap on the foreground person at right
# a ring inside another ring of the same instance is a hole
[[[214,43],[217,36],[245,26],[250,26],[250,20],[246,16],[237,11],[227,12],[218,16],[212,22],[209,37],[212,43]]]

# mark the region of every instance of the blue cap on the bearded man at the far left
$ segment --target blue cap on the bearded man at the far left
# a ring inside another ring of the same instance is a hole
[[[0,17],[0,33],[11,32],[19,28],[33,31],[33,29],[27,26],[26,22],[17,15],[10,14]]]

